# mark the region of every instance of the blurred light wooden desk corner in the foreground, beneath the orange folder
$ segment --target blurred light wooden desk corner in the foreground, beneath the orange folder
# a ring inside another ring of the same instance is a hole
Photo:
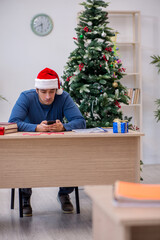
[[[114,207],[112,186],[85,190],[93,200],[94,240],[160,239],[160,207]]]

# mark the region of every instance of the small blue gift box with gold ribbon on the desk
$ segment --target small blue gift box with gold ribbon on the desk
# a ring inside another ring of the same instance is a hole
[[[128,121],[116,119],[113,121],[113,133],[127,133]]]

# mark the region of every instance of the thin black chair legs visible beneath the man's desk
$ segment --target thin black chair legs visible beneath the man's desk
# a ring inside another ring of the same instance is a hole
[[[79,190],[78,187],[75,187],[75,198],[76,198],[76,212],[80,213],[80,204],[79,204]],[[14,196],[15,196],[15,188],[11,189],[11,209],[14,209]],[[19,188],[19,216],[23,217],[23,207],[22,207],[22,191]]]

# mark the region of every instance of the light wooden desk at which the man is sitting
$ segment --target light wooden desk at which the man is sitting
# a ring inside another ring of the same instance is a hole
[[[0,136],[0,188],[139,181],[142,133],[30,134]]]

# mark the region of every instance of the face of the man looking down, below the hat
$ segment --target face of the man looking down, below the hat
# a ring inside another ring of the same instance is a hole
[[[54,101],[56,89],[36,89],[36,92],[42,104],[50,105]]]

